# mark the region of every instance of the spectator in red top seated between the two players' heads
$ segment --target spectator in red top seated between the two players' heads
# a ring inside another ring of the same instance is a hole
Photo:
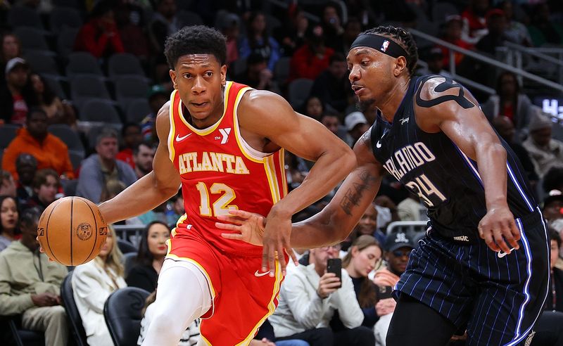
[[[289,81],[297,78],[316,79],[329,67],[329,59],[334,50],[324,46],[321,25],[313,25],[307,30],[307,43],[293,53]]]

